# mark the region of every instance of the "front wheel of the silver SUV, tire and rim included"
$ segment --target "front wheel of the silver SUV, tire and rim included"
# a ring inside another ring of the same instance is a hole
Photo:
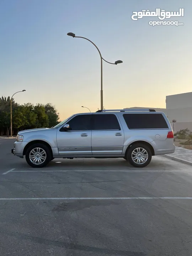
[[[39,152],[42,155],[38,154]],[[50,153],[50,149],[46,145],[38,143],[31,145],[27,149],[25,158],[27,164],[30,165],[31,167],[42,168],[45,167],[50,162],[50,160],[52,159],[52,155]],[[36,163],[32,162],[33,159],[35,159],[34,161],[36,161]]]

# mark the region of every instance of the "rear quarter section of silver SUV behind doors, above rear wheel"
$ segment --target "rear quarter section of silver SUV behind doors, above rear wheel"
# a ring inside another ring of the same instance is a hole
[[[164,113],[123,113],[121,123],[124,127],[124,150],[137,140],[146,141],[153,146],[155,155],[174,151],[174,140],[167,138],[167,133],[172,131],[169,120]]]

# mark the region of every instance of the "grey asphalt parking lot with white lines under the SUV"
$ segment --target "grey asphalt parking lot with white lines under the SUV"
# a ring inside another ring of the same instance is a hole
[[[33,169],[0,139],[0,255],[191,256],[192,166],[154,157]]]

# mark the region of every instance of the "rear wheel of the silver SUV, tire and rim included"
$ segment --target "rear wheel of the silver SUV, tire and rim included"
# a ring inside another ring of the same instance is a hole
[[[141,153],[143,154],[143,156]],[[142,168],[147,166],[150,163],[151,158],[151,150],[145,144],[134,144],[133,146],[130,146],[127,151],[127,159],[134,167]]]

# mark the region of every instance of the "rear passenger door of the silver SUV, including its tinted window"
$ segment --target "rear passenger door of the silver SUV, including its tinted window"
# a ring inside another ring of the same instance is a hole
[[[93,155],[122,154],[124,132],[116,114],[92,115],[91,146]]]

